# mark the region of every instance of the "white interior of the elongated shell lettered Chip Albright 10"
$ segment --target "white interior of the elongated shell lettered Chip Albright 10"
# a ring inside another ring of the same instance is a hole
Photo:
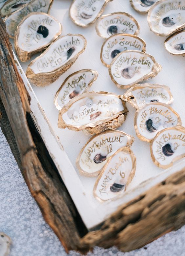
[[[85,47],[86,40],[81,35],[66,35],[55,40],[29,66],[35,74],[59,69],[78,55]]]

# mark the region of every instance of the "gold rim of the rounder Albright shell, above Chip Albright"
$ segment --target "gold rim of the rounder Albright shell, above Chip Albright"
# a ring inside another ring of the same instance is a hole
[[[35,49],[34,51],[25,51],[25,50],[22,50],[19,46],[18,46],[18,37],[20,35],[20,29],[21,29],[21,25],[23,24],[23,22],[29,18],[31,15],[35,15],[35,14],[41,14],[41,15],[47,15],[47,16],[50,16],[53,20],[55,20],[58,25],[59,25],[59,32],[55,34],[55,36],[52,38],[52,41],[50,41],[49,43]],[[42,12],[32,12],[28,15],[26,15],[23,20],[19,23],[19,25],[17,26],[17,29],[15,31],[15,34],[14,34],[14,47],[15,47],[15,52],[16,54],[18,55],[20,61],[22,62],[26,62],[26,61],[29,61],[31,59],[31,56],[38,53],[38,52],[41,52],[42,50],[45,50],[49,45],[51,45],[52,42],[54,42],[62,33],[62,30],[63,30],[63,27],[62,27],[62,24],[53,16],[51,16],[50,14],[47,14],[47,13],[42,13]],[[21,57],[21,55],[23,55]],[[26,58],[27,56],[27,58]]]

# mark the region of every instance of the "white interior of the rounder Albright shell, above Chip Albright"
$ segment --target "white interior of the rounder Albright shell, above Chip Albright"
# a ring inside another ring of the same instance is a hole
[[[60,23],[48,14],[33,13],[21,24],[17,45],[32,52],[51,43],[61,33]]]

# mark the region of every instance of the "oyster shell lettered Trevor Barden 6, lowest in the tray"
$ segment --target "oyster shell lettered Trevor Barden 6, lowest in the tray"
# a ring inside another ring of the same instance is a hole
[[[94,196],[101,202],[121,196],[134,178],[135,169],[136,158],[130,148],[118,149],[98,176]]]

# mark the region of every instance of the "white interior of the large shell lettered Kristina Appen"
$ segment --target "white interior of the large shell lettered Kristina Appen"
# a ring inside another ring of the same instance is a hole
[[[62,119],[67,125],[93,127],[97,123],[114,119],[123,111],[124,106],[120,98],[97,93],[73,102],[62,115]]]

